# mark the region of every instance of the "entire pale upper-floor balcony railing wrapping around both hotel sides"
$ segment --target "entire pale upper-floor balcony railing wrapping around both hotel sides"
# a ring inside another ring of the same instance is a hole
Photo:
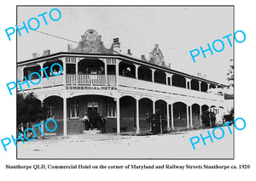
[[[34,79],[33,82],[38,82],[38,79]],[[89,74],[79,74],[78,78],[75,74],[67,74],[66,84],[67,85],[96,85],[104,86],[116,85],[115,75],[89,75]],[[106,84],[107,81],[107,84]],[[61,76],[49,76],[49,79],[42,78],[38,85],[32,85],[30,83],[30,88],[27,87],[26,83],[22,84],[23,90],[33,89],[33,88],[49,88],[58,85],[63,85],[63,75]],[[153,91],[158,93],[171,93],[174,96],[189,96],[191,99],[201,98],[201,99],[224,99],[223,95],[218,95],[217,93],[205,93],[201,91],[195,91],[188,88],[178,88],[175,86],[169,86],[166,84],[148,82],[143,80],[137,80],[135,78],[127,76],[119,76],[119,85],[126,88],[136,88],[145,91]],[[17,87],[20,90],[19,86]]]

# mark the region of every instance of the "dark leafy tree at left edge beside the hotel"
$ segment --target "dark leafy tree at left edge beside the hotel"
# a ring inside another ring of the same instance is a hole
[[[41,122],[45,119],[44,110],[34,93],[17,93],[17,125],[21,122]]]

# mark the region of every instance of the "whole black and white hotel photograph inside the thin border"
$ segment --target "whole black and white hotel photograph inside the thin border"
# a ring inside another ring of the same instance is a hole
[[[234,158],[233,6],[17,6],[17,25],[17,159]]]

